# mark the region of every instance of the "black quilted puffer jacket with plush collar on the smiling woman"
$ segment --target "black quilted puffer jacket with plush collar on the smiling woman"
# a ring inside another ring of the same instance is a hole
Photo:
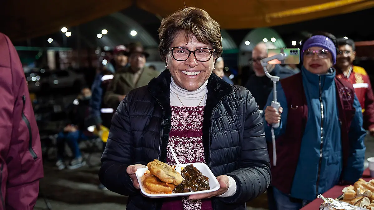
[[[159,159],[166,161],[171,127],[169,70],[132,90],[112,119],[99,172],[101,183],[128,195],[129,210],[160,209],[162,199],[143,197],[132,185],[126,168]],[[214,210],[244,210],[245,202],[262,194],[270,184],[269,154],[264,126],[251,93],[232,86],[215,74],[209,77],[203,120],[205,160],[215,176],[235,179],[236,194],[212,201]]]

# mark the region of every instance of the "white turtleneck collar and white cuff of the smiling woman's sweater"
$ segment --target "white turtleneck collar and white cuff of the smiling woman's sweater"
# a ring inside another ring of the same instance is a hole
[[[170,83],[170,105],[171,106],[205,106],[206,105],[206,95],[208,94],[208,88],[206,85],[208,80],[197,90],[189,91],[181,88],[175,83],[171,77]],[[178,96],[177,96],[178,95]],[[179,97],[179,99],[178,99]],[[201,103],[200,103],[201,101]],[[230,197],[235,195],[236,192],[236,181],[233,177],[229,177],[229,189],[217,197]]]

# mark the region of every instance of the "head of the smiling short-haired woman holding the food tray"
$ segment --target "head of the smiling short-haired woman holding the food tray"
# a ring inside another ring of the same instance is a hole
[[[204,10],[193,7],[163,19],[159,38],[161,58],[175,83],[190,91],[208,80],[222,53],[220,25]]]

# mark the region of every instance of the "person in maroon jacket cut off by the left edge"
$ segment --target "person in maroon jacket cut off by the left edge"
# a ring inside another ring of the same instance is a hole
[[[42,148],[21,62],[2,33],[0,72],[0,210],[31,210],[43,178]]]

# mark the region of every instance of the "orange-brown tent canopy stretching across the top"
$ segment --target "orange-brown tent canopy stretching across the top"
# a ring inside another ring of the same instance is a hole
[[[374,7],[373,0],[11,0],[1,4],[0,31],[24,40],[137,6],[164,18],[186,6],[205,9],[224,29],[270,27]]]

